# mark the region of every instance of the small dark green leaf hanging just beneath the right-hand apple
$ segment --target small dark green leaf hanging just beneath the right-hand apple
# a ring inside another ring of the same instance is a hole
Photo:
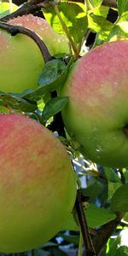
[[[118,174],[114,172],[112,168],[105,167],[104,172],[109,182],[121,183]]]

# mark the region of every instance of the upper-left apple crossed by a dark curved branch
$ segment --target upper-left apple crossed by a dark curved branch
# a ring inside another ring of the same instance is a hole
[[[67,38],[57,34],[48,22],[33,15],[25,15],[9,20],[9,24],[24,26],[37,32],[49,49],[50,55],[69,54]],[[44,59],[38,45],[23,34],[12,37],[0,29],[0,90],[20,93],[36,89],[38,76],[44,67]]]

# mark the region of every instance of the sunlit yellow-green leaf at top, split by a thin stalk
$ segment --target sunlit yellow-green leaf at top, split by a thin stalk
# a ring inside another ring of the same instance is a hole
[[[45,19],[49,22],[50,26],[55,29],[55,32],[64,34],[65,32],[61,27],[60,20],[55,13],[55,9],[43,9],[43,12]],[[81,43],[88,26],[84,4],[60,3],[59,12],[74,42],[76,44]]]

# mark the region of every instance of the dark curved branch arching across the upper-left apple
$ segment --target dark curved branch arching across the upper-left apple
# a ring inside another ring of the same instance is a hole
[[[52,56],[49,54],[49,50],[47,49],[46,45],[44,44],[43,40],[38,37],[38,35],[31,31],[28,28],[25,28],[23,26],[13,26],[4,22],[0,22],[0,28],[5,29],[8,31],[12,36],[15,36],[18,33],[24,34],[28,36],[29,38],[32,38],[34,42],[38,45],[38,48],[40,49],[44,62],[48,62],[52,59]]]

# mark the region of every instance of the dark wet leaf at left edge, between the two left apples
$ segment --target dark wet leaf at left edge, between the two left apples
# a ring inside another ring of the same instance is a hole
[[[34,112],[38,108],[37,102],[30,102],[18,96],[9,95],[3,92],[0,93],[0,96],[3,100],[3,106],[9,106],[10,108],[21,112]]]

